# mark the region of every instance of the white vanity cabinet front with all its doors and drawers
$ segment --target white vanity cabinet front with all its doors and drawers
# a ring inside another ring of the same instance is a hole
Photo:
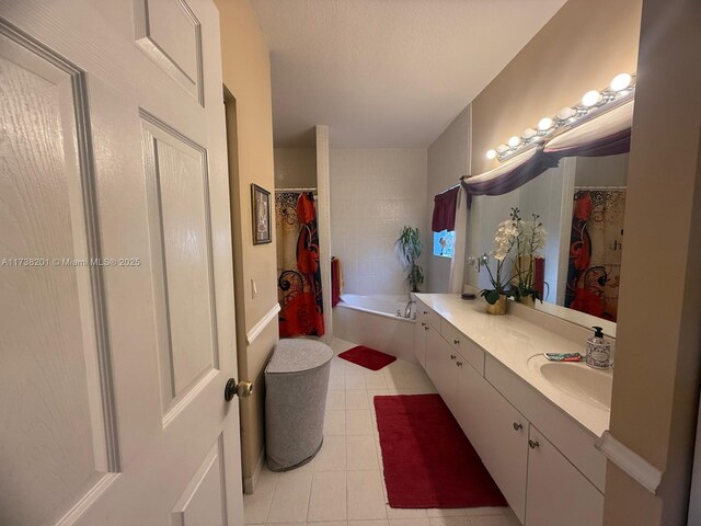
[[[600,525],[606,460],[594,436],[436,311],[417,306],[420,362],[519,521]]]

